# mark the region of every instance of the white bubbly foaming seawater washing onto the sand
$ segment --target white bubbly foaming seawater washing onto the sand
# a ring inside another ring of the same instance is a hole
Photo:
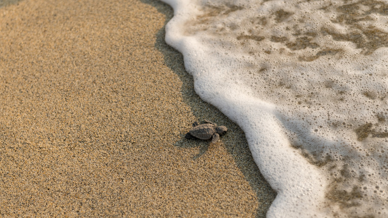
[[[196,93],[277,191],[267,217],[388,217],[387,0],[163,0]]]

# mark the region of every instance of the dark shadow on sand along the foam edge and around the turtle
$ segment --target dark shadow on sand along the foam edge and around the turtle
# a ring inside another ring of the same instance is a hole
[[[218,124],[232,123],[232,126],[228,127],[228,133],[221,137],[221,140],[224,143],[227,151],[233,156],[236,165],[241,170],[245,179],[249,182],[250,186],[256,193],[258,201],[261,203],[256,217],[264,218],[272,202],[276,197],[276,192],[272,190],[271,186],[261,175],[259,169],[257,168],[252,154],[249,150],[248,143],[245,138],[244,132],[239,126],[229,120],[225,115],[218,111],[215,107],[210,104],[202,101],[194,91],[194,80],[193,77],[186,72],[184,66],[184,60],[181,53],[179,53],[174,48],[170,47],[165,42],[165,26],[166,23],[173,17],[173,9],[158,0],[141,0],[144,3],[154,6],[160,13],[166,15],[166,22],[162,29],[159,30],[156,37],[155,47],[161,51],[164,55],[165,64],[178,75],[182,81],[182,95],[185,103],[191,107],[194,116],[199,117],[200,119],[208,119],[210,121],[218,122]],[[194,122],[195,120],[193,120]],[[201,121],[201,120],[200,120]],[[233,144],[228,143],[228,140],[231,138],[240,137],[240,140],[243,143]],[[181,135],[181,140],[176,144],[180,147],[197,147],[200,146],[199,153],[193,158],[200,158],[203,154],[206,153],[209,146],[209,141],[195,140],[193,142],[187,142],[185,135]],[[195,142],[195,143],[194,143]]]

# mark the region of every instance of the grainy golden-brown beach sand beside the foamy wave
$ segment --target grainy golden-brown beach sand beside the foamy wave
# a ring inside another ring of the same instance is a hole
[[[244,132],[194,92],[152,0],[0,5],[0,217],[265,217]],[[229,128],[189,141],[195,120]]]

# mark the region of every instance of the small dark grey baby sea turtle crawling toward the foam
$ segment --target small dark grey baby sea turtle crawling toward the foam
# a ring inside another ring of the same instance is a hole
[[[211,139],[211,143],[215,143],[218,141],[220,135],[224,135],[228,129],[221,125],[217,126],[217,124],[213,122],[209,122],[206,119],[204,123],[198,124],[198,122],[193,123],[193,128],[186,134],[185,138],[187,139],[202,139],[208,140]]]

